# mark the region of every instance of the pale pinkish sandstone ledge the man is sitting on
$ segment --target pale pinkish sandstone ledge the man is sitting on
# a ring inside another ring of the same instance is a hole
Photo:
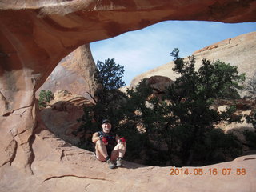
[[[124,162],[110,170],[90,151],[78,149],[41,126],[31,143],[32,174],[23,172],[18,157],[1,166],[3,191],[254,191],[256,155],[202,167],[142,166]],[[178,169],[178,170],[176,170]],[[199,170],[200,169],[200,170]],[[200,174],[198,174],[200,173]]]

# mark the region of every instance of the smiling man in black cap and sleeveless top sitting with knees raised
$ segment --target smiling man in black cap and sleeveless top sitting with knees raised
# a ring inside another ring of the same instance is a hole
[[[126,140],[119,138],[111,131],[110,120],[102,121],[102,131],[93,134],[92,142],[95,144],[95,154],[99,161],[107,162],[110,169],[122,166],[122,158],[126,153]],[[116,164],[114,164],[116,161]]]

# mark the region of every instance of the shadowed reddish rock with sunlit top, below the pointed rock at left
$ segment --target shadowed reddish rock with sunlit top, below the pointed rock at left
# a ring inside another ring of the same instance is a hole
[[[82,135],[74,134],[80,126],[78,118],[82,118],[83,106],[93,105],[88,99],[58,90],[54,93],[54,100],[50,106],[40,111],[42,122],[58,138],[78,145]]]

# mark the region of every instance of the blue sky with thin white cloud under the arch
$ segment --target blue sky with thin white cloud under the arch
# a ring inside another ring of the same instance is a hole
[[[176,47],[180,56],[186,57],[215,42],[252,31],[256,31],[256,22],[168,21],[92,42],[90,48],[95,62],[114,58],[116,63],[124,66],[123,80],[130,85],[138,74],[172,61],[170,52]]]

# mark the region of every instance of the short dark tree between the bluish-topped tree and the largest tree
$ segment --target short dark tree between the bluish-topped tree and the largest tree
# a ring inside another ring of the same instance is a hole
[[[153,155],[153,152],[156,150],[159,152],[159,150],[155,149],[150,142],[150,135],[152,128],[156,127],[154,125],[156,119],[160,117],[158,117],[159,113],[156,113],[149,106],[150,103],[154,102],[154,98],[150,98],[151,94],[153,94],[153,90],[147,85],[146,79],[139,82],[138,86],[127,90],[127,105],[124,108],[126,123],[118,131],[122,134],[122,132],[126,133],[127,130],[134,130],[133,134],[129,132],[126,134],[129,141],[127,159],[134,159],[137,156],[148,165],[159,166],[161,165],[161,161],[158,161],[160,158],[152,158],[156,155],[155,153]]]

